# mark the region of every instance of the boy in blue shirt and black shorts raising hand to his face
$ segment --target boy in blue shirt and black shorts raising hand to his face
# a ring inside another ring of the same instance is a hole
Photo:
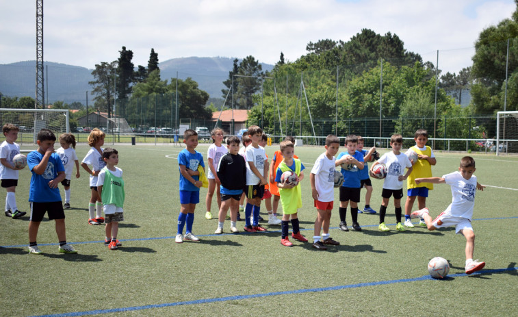
[[[54,152],[55,136],[48,129],[38,133],[38,150],[27,155],[27,165],[32,172],[29,190],[31,216],[29,218],[29,253],[40,254],[36,243],[38,228],[46,212],[49,220],[55,221],[55,231],[60,242],[61,253],[77,253],[73,246],[66,243],[65,213],[57,188],[65,179],[65,168],[60,155]]]

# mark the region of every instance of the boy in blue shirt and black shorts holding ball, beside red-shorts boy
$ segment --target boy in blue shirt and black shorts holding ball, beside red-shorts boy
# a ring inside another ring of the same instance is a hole
[[[344,175],[344,183],[340,186],[340,214],[341,231],[349,231],[346,223],[347,206],[351,203],[352,229],[361,231],[358,223],[358,203],[360,202],[360,170],[363,170],[363,154],[356,151],[358,138],[354,134],[346,137],[347,152],[341,152],[335,162],[335,166],[347,164],[341,168],[341,175]]]

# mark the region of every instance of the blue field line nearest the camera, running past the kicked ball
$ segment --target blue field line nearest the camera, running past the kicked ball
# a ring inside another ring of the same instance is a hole
[[[494,274],[494,273],[501,273],[501,272],[509,272],[509,271],[515,271],[515,270],[518,270],[518,267],[497,268],[497,269],[493,269],[493,270],[480,270],[471,276],[481,275],[481,274]],[[457,273],[457,274],[448,275],[448,277],[467,277],[467,276],[468,275],[465,273]],[[309,292],[328,292],[331,290],[345,290],[348,288],[363,288],[363,287],[367,287],[367,286],[380,286],[380,285],[387,285],[387,284],[408,283],[408,282],[428,281],[428,280],[437,281],[438,283],[441,283],[441,282],[445,283],[445,281],[448,281],[448,279],[437,280],[437,279],[433,279],[432,277],[430,277],[430,275],[424,275],[422,277],[415,277],[413,279],[393,279],[390,281],[375,281],[375,282],[369,282],[369,283],[357,283],[357,284],[349,284],[349,285],[341,285],[341,286],[330,286],[327,288],[303,288],[301,290],[287,290],[284,292],[269,292],[269,293],[261,293],[261,294],[226,296],[226,297],[217,297],[217,298],[213,298],[213,299],[196,299],[194,301],[179,301],[176,303],[164,303],[164,304],[143,305],[143,306],[133,306],[133,307],[120,307],[120,308],[112,308],[112,309],[96,309],[96,310],[90,310],[90,311],[86,311],[86,312],[72,312],[72,313],[51,314],[51,315],[36,315],[36,316],[31,316],[31,317],[88,316],[88,315],[110,314],[110,313],[116,313],[116,312],[132,312],[132,311],[137,311],[137,310],[163,308],[163,307],[174,307],[174,306],[180,306],[180,305],[198,305],[198,304],[207,304],[207,303],[218,303],[218,302],[224,302],[224,301],[241,301],[244,299],[257,299],[257,298],[268,297],[268,296],[304,294],[304,293],[309,293]]]

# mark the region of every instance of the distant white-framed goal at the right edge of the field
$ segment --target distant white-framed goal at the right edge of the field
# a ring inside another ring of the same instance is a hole
[[[518,153],[518,111],[497,112],[496,154]]]

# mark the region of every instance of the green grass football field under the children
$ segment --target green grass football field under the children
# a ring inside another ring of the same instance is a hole
[[[391,231],[378,231],[378,214],[359,214],[361,232],[339,231],[338,190],[331,237],[341,245],[328,251],[317,251],[309,242],[282,246],[280,226],[264,225],[266,233],[231,234],[227,220],[225,233],[214,235],[218,220],[204,217],[206,189],[200,192],[193,226],[200,243],[176,244],[180,148],[115,147],[127,197],[118,235],[122,247],[109,251],[102,243],[104,226],[87,224],[90,190],[83,170],[72,181],[72,209],[66,210],[67,240],[77,255],[58,253],[54,224],[46,220],[38,233],[43,254],[28,254],[29,217],[0,216],[1,316],[517,315],[518,157],[474,155],[478,180],[488,186],[476,194],[475,258],[487,265],[467,276],[465,239],[453,228],[395,231],[392,200],[385,218]],[[268,155],[276,149],[267,147]],[[79,160],[87,151],[85,144],[77,147]],[[206,159],[207,144],[198,151]],[[322,151],[296,148],[307,176]],[[456,170],[463,155],[436,153],[433,174]],[[30,174],[21,171],[16,192],[18,209],[26,212]],[[371,205],[379,210],[382,181],[372,182]],[[302,181],[302,196],[300,225],[311,241],[315,208],[309,177]],[[364,197],[363,190],[361,208]],[[450,201],[450,187],[436,185],[427,200],[430,214],[437,216]],[[211,211],[217,214],[215,199]],[[264,207],[261,214],[266,214]],[[351,222],[350,214],[347,220]],[[239,222],[238,229],[243,225]],[[452,264],[445,280],[428,277],[426,265],[436,256]]]

